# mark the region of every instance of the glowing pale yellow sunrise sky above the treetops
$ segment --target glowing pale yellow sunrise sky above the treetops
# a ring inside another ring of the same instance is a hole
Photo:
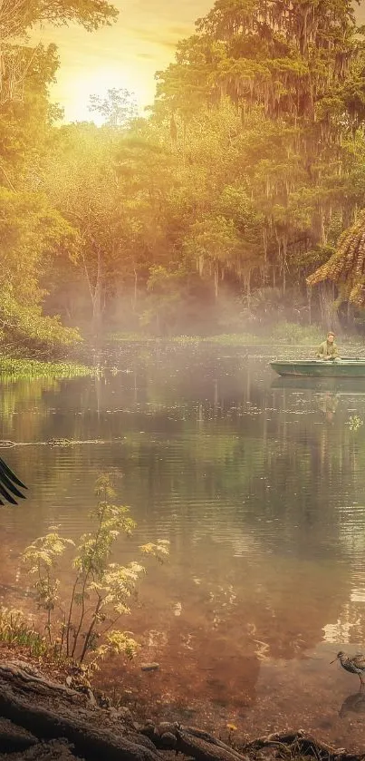
[[[65,121],[93,118],[91,93],[110,87],[133,91],[141,109],[153,101],[154,74],[173,61],[178,40],[192,34],[194,22],[214,0],[114,0],[116,24],[89,33],[76,24],[37,33],[44,44],[58,45],[61,68],[53,100],[64,108]]]

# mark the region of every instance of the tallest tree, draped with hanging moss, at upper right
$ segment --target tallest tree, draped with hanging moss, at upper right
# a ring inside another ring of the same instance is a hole
[[[184,161],[202,104],[219,112],[226,97],[235,104],[241,136],[231,133],[228,146],[241,143],[247,192],[263,219],[258,269],[283,292],[306,251],[328,243],[333,216],[348,219],[363,195],[360,183],[357,195],[343,193],[360,173],[363,31],[348,0],[216,0],[178,45],[176,63],[157,74],[155,118],[171,122]]]

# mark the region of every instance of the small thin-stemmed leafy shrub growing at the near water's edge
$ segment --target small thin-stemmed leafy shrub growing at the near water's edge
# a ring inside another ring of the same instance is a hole
[[[23,560],[36,577],[34,589],[39,607],[46,612],[50,646],[56,647],[60,656],[80,663],[89,655],[96,668],[98,660],[107,654],[123,653],[132,658],[138,648],[130,632],[112,627],[121,616],[130,614],[130,600],[136,595],[139,577],[145,569],[136,561],[125,566],[110,562],[120,533],[128,536],[135,523],[128,507],[114,504],[116,493],[109,476],[102,475],[97,480],[95,494],[98,502],[91,511],[95,529],[83,534],[76,548],[72,561],[74,582],[67,608],[63,607],[61,582],[55,574],[59,559],[68,547],[74,546],[73,542],[63,539],[57,527],[52,527],[26,548]],[[168,545],[168,541],[158,540],[143,545],[140,551],[162,562],[168,556]]]

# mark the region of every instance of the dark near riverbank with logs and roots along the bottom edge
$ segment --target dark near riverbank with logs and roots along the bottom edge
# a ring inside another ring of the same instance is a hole
[[[0,647],[0,759],[7,761],[262,761],[315,757],[360,761],[302,731],[215,737],[204,727],[137,721],[128,707],[87,686],[76,668],[38,668],[24,649]]]

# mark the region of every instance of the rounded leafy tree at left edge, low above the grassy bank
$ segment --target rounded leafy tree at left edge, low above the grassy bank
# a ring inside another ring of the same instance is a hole
[[[43,317],[40,278],[48,260],[72,249],[75,234],[41,195],[0,188],[0,337],[23,352],[30,344],[40,356],[62,352],[78,340],[57,317]]]

